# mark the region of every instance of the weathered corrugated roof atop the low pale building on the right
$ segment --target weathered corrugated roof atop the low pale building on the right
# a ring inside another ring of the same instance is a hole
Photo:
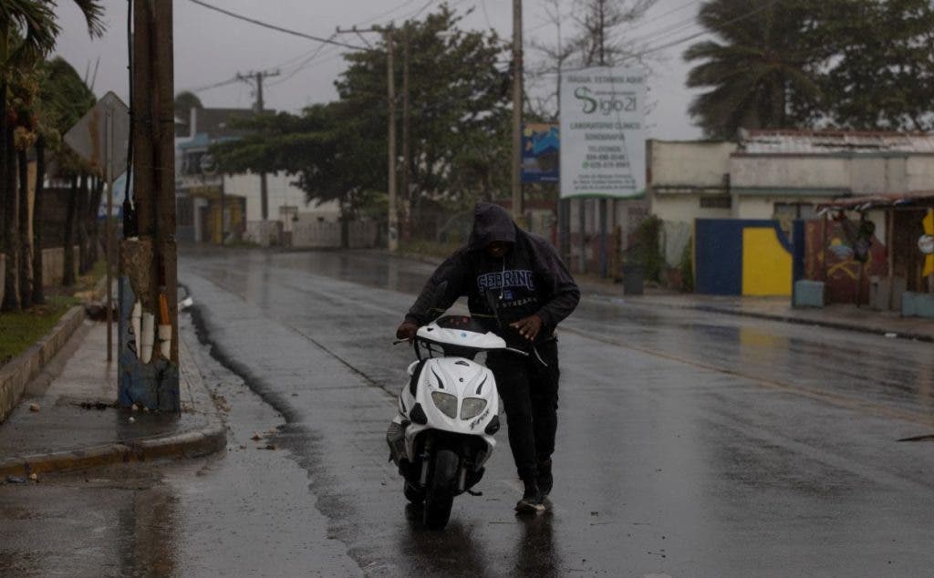
[[[839,154],[909,152],[934,154],[934,134],[848,131],[749,131],[739,152],[747,154]]]

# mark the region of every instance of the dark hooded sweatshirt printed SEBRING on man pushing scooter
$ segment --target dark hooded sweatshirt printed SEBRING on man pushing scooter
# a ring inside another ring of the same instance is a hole
[[[490,257],[485,249],[494,241],[505,241],[512,248],[502,258]],[[443,294],[439,287],[445,288]],[[542,318],[536,342],[552,339],[559,322],[580,301],[580,290],[545,239],[519,229],[502,207],[478,203],[467,247],[438,266],[405,319],[424,325],[461,296],[467,297],[471,315],[489,331],[509,345],[523,346],[528,341],[510,323],[536,314]],[[502,328],[497,326],[491,303],[495,303]]]

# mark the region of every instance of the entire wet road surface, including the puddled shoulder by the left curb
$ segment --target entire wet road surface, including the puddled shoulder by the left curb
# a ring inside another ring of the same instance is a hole
[[[934,434],[930,345],[587,294],[560,331],[550,512],[513,514],[501,432],[483,496],[421,529],[384,436],[412,358],[392,333],[431,271],[372,252],[185,255],[205,345],[183,332],[230,408],[229,451],[0,487],[0,573],[931,574],[934,444],[898,441]],[[61,551],[31,556],[44,528]],[[58,566],[75,548],[83,562]]]

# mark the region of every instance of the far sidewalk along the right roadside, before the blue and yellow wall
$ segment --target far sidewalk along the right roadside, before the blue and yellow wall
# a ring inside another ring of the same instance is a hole
[[[676,293],[664,289],[645,289],[644,295],[624,295],[622,285],[600,279],[577,279],[584,295],[621,300],[634,305],[696,309],[726,315],[740,315],[817,325],[844,331],[861,331],[934,342],[934,319],[901,317],[895,311],[874,311],[869,305],[835,303],[825,307],[792,307],[788,297],[734,297]],[[618,302],[617,302],[618,303]]]

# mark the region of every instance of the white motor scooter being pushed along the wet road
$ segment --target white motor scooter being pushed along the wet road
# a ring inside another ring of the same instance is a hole
[[[386,434],[389,458],[405,479],[405,497],[423,504],[423,521],[444,528],[454,497],[483,477],[496,446],[500,400],[482,351],[517,351],[471,317],[445,316],[418,328],[417,361],[399,394],[399,412]]]

